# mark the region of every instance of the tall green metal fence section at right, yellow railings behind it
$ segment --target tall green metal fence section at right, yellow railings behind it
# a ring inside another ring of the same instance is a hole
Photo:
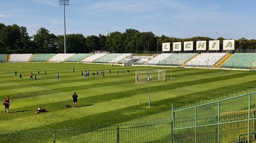
[[[173,143],[251,143],[256,140],[255,109],[256,92],[248,90],[183,109],[174,107]]]

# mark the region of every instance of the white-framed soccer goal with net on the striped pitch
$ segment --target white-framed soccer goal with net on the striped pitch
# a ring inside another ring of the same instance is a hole
[[[135,82],[146,83],[148,75],[150,74],[150,81],[166,81],[166,70],[136,70]],[[138,80],[137,80],[138,77]]]

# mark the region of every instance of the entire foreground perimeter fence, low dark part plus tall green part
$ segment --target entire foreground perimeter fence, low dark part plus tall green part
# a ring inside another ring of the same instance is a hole
[[[172,119],[0,133],[1,143],[255,143],[255,87],[184,107]]]

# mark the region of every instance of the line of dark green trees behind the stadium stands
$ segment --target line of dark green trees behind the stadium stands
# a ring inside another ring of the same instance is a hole
[[[50,34],[46,28],[39,28],[36,34],[29,36],[26,27],[4,25],[0,23],[0,53],[64,53],[64,35]],[[83,34],[67,34],[67,53],[89,53],[93,50],[106,50],[113,53],[147,53],[149,51],[161,51],[162,43],[194,41],[196,47],[198,40],[215,40],[209,37],[195,36],[192,38],[180,39],[165,35],[156,36],[152,31],[140,32],[135,29],[126,29],[124,33],[115,31],[109,36],[99,34],[99,36],[84,36]],[[224,40],[219,37],[220,50],[222,51]],[[237,39],[235,49],[254,49],[256,39]],[[208,45],[207,45],[207,49]],[[183,51],[181,51],[183,52]],[[197,52],[194,48],[193,52]]]

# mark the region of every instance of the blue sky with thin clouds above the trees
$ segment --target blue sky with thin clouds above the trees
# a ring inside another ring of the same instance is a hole
[[[180,39],[256,39],[256,0],[69,0],[66,34],[84,36],[126,29]],[[1,0],[0,23],[24,26],[30,36],[41,27],[64,35],[59,0]]]

